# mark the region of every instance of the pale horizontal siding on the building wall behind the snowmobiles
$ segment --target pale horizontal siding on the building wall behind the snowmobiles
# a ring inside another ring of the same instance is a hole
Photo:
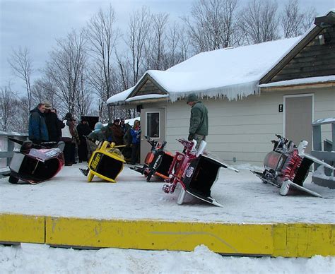
[[[314,93],[314,119],[335,117],[335,89],[299,90],[294,94]],[[207,150],[227,163],[240,165],[262,165],[264,155],[272,148],[274,134],[283,134],[284,95],[292,92],[262,93],[244,100],[202,100],[208,108],[209,134]],[[187,138],[190,107],[183,101],[167,105],[166,141],[167,149],[180,151],[177,138]],[[303,114],[302,114],[303,115]],[[324,138],[330,138],[330,127],[322,129]],[[233,162],[233,158],[237,162]]]

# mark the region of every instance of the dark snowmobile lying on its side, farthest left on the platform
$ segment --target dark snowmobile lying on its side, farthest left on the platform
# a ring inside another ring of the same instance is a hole
[[[64,142],[37,145],[31,141],[11,137],[8,139],[21,145],[20,151],[13,154],[9,165],[11,174],[8,181],[11,184],[17,184],[19,180],[39,184],[54,177],[64,167]]]

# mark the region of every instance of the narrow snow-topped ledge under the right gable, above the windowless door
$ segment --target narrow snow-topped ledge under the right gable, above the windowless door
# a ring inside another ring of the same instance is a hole
[[[273,83],[266,83],[258,85],[261,91],[271,91],[286,88],[324,88],[335,86],[335,75],[334,76],[320,76],[310,78],[299,78],[287,81],[278,81]]]

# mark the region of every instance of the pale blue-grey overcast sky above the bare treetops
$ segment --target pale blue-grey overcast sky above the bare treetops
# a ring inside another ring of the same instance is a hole
[[[23,81],[13,76],[8,57],[12,49],[28,47],[33,59],[35,73],[42,68],[48,58],[48,52],[55,45],[55,39],[65,37],[72,29],[79,29],[98,12],[112,4],[119,28],[126,30],[129,14],[141,6],[148,6],[153,13],[167,12],[170,20],[189,14],[194,0],[0,0],[0,86],[11,82],[13,90],[22,92]],[[243,5],[248,0],[240,0]],[[285,1],[286,2],[286,1]],[[283,0],[278,0],[281,5]],[[300,0],[302,8],[313,6],[319,15],[335,8],[335,0]]]

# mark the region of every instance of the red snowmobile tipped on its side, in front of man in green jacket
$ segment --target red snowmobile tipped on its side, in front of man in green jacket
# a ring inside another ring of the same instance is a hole
[[[176,153],[172,165],[169,169],[169,184],[163,186],[165,193],[173,193],[177,184],[182,186],[180,196],[177,199],[178,204],[182,204],[186,193],[199,198],[202,201],[217,206],[223,206],[211,197],[211,188],[218,179],[220,167],[228,168],[239,172],[237,169],[226,165],[224,162],[216,160],[210,155],[204,153],[206,142],[201,141],[198,150],[196,141],[186,141],[178,139],[184,146],[182,153]]]

